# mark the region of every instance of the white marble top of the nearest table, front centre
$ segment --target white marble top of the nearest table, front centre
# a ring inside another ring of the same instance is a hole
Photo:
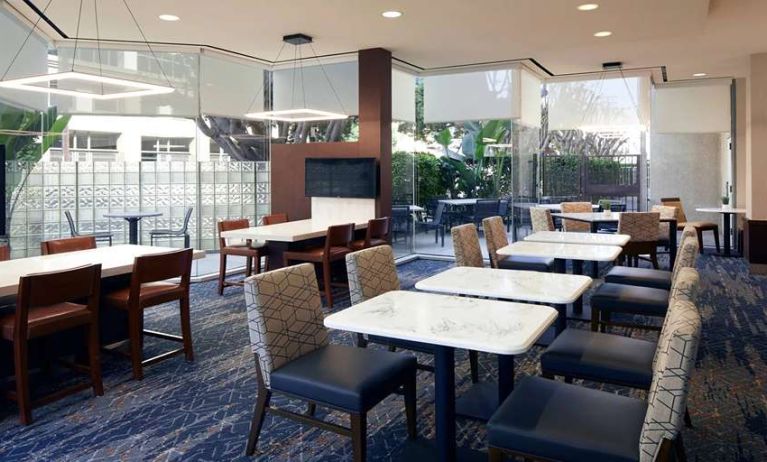
[[[392,291],[325,318],[325,326],[501,355],[526,352],[557,318],[554,308]]]

